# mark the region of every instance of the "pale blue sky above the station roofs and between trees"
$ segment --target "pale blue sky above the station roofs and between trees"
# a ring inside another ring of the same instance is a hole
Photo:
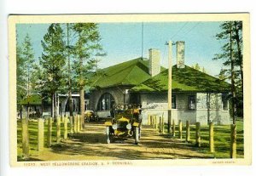
[[[102,48],[107,53],[99,58],[99,68],[105,68],[142,56],[148,58],[149,48],[160,49],[161,65],[167,67],[167,41],[185,42],[185,65],[198,63],[208,74],[218,75],[222,60],[212,60],[214,54],[221,53],[224,43],[216,40],[220,22],[161,22],[161,23],[100,23]],[[22,43],[26,34],[32,38],[35,58],[41,56],[41,40],[49,24],[18,24],[17,41]],[[143,30],[142,30],[143,29]],[[143,31],[143,32],[142,32]],[[143,35],[142,35],[143,33]],[[143,37],[142,37],[143,36]],[[142,40],[143,38],[143,40]],[[172,47],[172,64],[176,64],[176,47]]]

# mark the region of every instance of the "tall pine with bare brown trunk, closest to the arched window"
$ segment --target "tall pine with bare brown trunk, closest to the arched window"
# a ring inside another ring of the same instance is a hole
[[[80,115],[84,119],[84,88],[90,83],[89,75],[96,67],[96,54],[102,51],[99,44],[101,37],[98,26],[94,23],[77,23],[73,25],[73,31],[77,34],[77,40],[73,48],[73,81],[79,87]],[[84,121],[83,121],[84,122]]]

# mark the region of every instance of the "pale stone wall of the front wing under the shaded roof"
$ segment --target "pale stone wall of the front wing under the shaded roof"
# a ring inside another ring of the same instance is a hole
[[[177,94],[176,107],[172,110],[172,118],[178,122],[186,122],[191,124],[201,122],[202,125],[207,125],[207,94],[197,93],[196,95],[196,110],[189,111],[188,96],[192,94]],[[142,94],[141,101],[143,105],[143,124],[148,124],[148,115],[164,116],[164,121],[167,122],[167,93],[159,94]],[[230,124],[230,113],[222,109],[222,95],[210,94],[210,111],[209,120],[215,124]]]

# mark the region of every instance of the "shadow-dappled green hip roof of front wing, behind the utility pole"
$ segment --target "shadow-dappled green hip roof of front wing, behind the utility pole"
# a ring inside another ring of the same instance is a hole
[[[168,90],[168,70],[131,88],[133,92],[159,92]],[[172,66],[173,92],[229,92],[230,84],[189,66]]]

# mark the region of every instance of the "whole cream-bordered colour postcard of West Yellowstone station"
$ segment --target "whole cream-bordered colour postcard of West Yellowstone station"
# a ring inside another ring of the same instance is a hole
[[[249,14],[9,15],[13,167],[250,165]]]

